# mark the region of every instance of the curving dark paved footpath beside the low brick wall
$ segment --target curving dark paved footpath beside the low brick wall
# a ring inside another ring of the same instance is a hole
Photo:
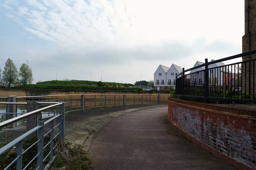
[[[112,119],[89,153],[96,170],[235,170],[180,136],[168,123],[167,107]]]

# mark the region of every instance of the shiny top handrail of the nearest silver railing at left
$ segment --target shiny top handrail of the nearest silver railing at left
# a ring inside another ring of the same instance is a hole
[[[29,113],[25,113],[25,114],[23,114],[23,115],[14,117],[14,118],[12,118],[12,119],[9,119],[9,120],[0,122],[0,128],[6,127],[6,126],[8,126],[8,125],[10,125],[10,124],[12,124],[12,123],[15,123],[15,122],[19,121],[19,120],[22,120],[22,119],[25,119],[25,118],[27,118],[27,117],[29,117],[29,116],[32,116],[32,115],[35,114],[35,113],[38,113],[38,112],[40,112],[40,111],[44,111],[44,110],[46,110],[46,109],[48,109],[48,108],[53,108],[53,107],[58,106],[58,105],[62,105],[62,103],[59,102],[58,104],[50,105],[50,106],[47,106],[47,107],[45,107],[45,108],[41,108],[41,109],[38,109],[38,110],[36,110],[36,111],[31,111],[31,112],[29,112]]]

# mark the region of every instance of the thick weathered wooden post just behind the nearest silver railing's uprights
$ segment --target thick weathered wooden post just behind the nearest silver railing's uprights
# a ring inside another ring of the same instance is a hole
[[[37,102],[36,101],[27,101],[27,113],[37,110]],[[26,131],[29,131],[37,126],[38,122],[38,114],[33,114],[26,118]],[[34,136],[36,133],[32,133],[28,136],[28,139],[30,140],[32,136]]]

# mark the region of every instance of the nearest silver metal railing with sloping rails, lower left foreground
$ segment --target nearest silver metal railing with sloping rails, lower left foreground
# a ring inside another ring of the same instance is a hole
[[[0,103],[2,104],[2,103]],[[19,104],[19,103],[12,103],[14,105]],[[47,158],[49,158],[49,162],[47,166],[49,166],[50,162],[52,162],[55,159],[54,156],[54,149],[57,146],[55,144],[54,146],[54,141],[55,138],[59,138],[60,141],[64,140],[64,129],[65,129],[65,103],[64,102],[38,102],[38,104],[52,104],[50,106],[44,107],[37,109],[35,111],[31,111],[29,113],[25,113],[23,115],[14,117],[12,119],[6,120],[4,122],[0,122],[0,128],[4,128],[8,125],[11,125],[21,119],[28,118],[29,116],[35,115],[37,113],[40,113],[41,111],[47,110],[49,108],[55,108],[55,107],[60,107],[60,113],[58,115],[54,115],[51,119],[47,120],[46,122],[41,121],[38,119],[37,126],[34,127],[33,129],[27,131],[23,135],[19,136],[12,142],[6,144],[5,146],[0,148],[0,156],[5,154],[7,151],[10,149],[15,148],[17,152],[17,157],[6,167],[1,167],[4,170],[7,170],[9,167],[12,167],[15,162],[16,162],[16,169],[17,170],[24,170],[29,165],[31,165],[36,159],[37,159],[37,168],[36,170],[43,170],[44,168],[44,163],[46,163]],[[56,120],[58,119],[58,125],[55,125]],[[45,133],[44,127],[50,124],[50,129],[47,133]],[[55,129],[58,127],[58,133],[55,133]],[[25,140],[28,136],[31,136],[33,133],[37,133],[37,141],[33,144],[31,144],[28,148],[23,148],[23,140]],[[47,144],[44,144],[44,138],[45,136],[50,135],[50,141]],[[37,154],[34,156],[32,160],[29,161],[28,164],[23,165],[23,159],[22,156],[24,153],[29,151],[35,144],[37,144]],[[45,148],[49,146],[49,153],[44,154]],[[47,155],[46,155],[47,154]],[[46,156],[44,156],[46,155]],[[23,167],[24,166],[24,167]]]

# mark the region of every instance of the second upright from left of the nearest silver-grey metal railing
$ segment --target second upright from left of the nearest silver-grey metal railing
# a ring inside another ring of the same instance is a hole
[[[43,170],[44,167],[44,121],[38,121],[38,170]]]

